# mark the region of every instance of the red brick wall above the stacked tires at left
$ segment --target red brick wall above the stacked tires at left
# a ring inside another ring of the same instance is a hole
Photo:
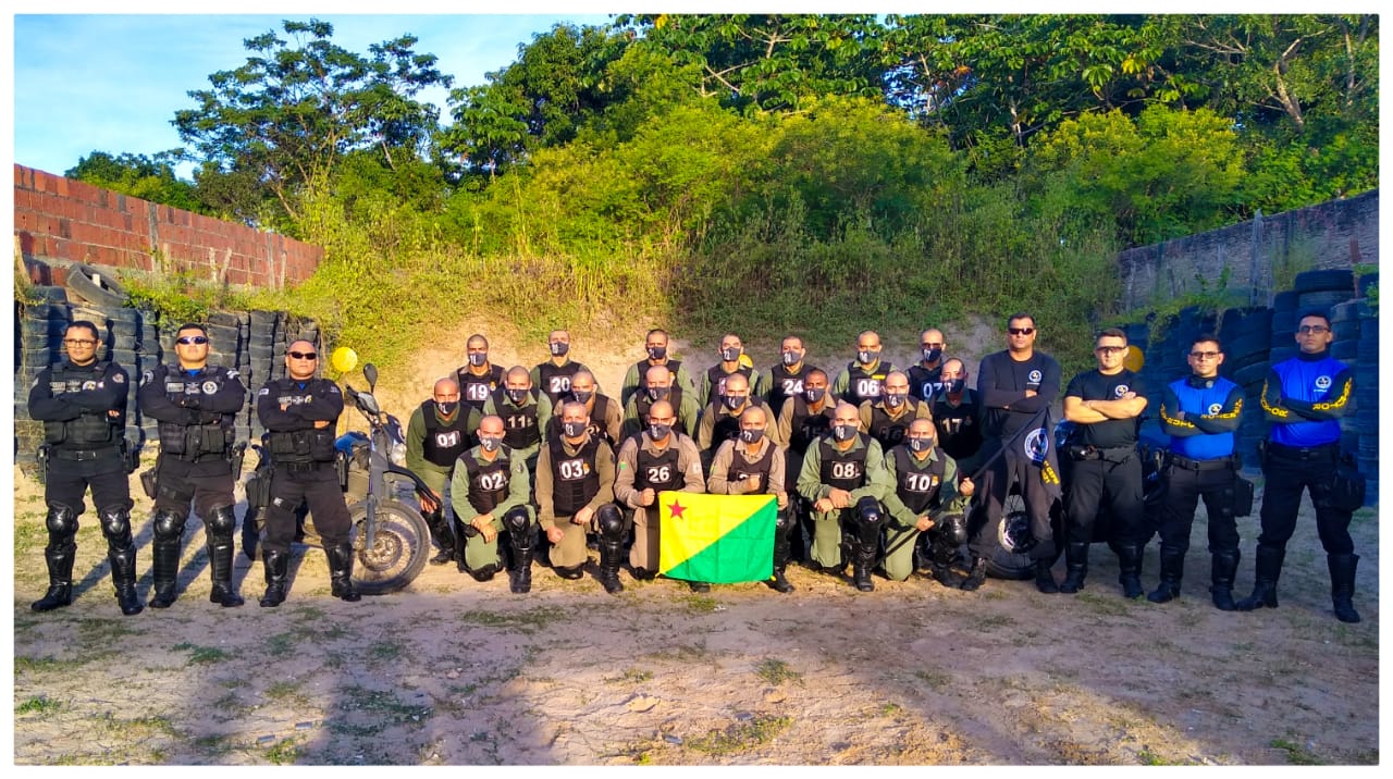
[[[61,284],[70,262],[281,288],[309,277],[325,249],[294,238],[118,195],[14,166],[14,236],[31,279]]]

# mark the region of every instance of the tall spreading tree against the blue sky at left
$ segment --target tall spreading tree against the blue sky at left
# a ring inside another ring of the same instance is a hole
[[[415,96],[453,82],[433,54],[412,52],[411,35],[362,57],[333,45],[327,22],[281,26],[288,40],[274,31],[244,40],[247,64],[212,74],[212,89],[188,93],[198,107],[173,121],[201,156],[199,185],[248,222],[298,219],[305,188],[326,184],[352,151],[375,151],[387,167],[422,156],[439,110]]]

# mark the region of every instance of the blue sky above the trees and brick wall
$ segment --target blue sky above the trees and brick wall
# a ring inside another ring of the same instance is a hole
[[[507,7],[527,10],[517,4]],[[174,111],[195,107],[188,92],[208,89],[212,72],[242,65],[248,54],[242,40],[270,29],[280,32],[284,18],[327,21],[334,25],[334,43],[364,56],[369,43],[415,35],[419,42],[414,49],[437,56],[440,71],[454,77],[454,86],[483,84],[485,72],[517,59],[520,43],[531,42],[534,33],[559,21],[609,21],[605,14],[545,13],[38,15],[32,11],[21,10],[13,17],[14,162],[57,174],[93,151],[153,155],[180,146],[170,121]],[[422,98],[437,103],[442,120],[449,121],[446,91],[436,89]]]

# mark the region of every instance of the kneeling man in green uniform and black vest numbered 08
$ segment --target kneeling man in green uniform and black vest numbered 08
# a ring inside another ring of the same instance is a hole
[[[832,431],[808,447],[798,474],[798,493],[812,503],[812,560],[823,571],[843,573],[841,538],[853,562],[857,589],[871,592],[871,569],[885,516],[880,499],[894,485],[885,472],[885,453],[857,429],[857,407],[839,403]]]

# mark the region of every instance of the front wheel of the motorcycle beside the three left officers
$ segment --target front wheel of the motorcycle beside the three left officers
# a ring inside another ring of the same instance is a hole
[[[378,503],[372,546],[368,541],[368,504],[348,507],[352,520],[352,583],[364,595],[396,592],[417,578],[430,555],[430,528],[415,507],[400,500]]]

